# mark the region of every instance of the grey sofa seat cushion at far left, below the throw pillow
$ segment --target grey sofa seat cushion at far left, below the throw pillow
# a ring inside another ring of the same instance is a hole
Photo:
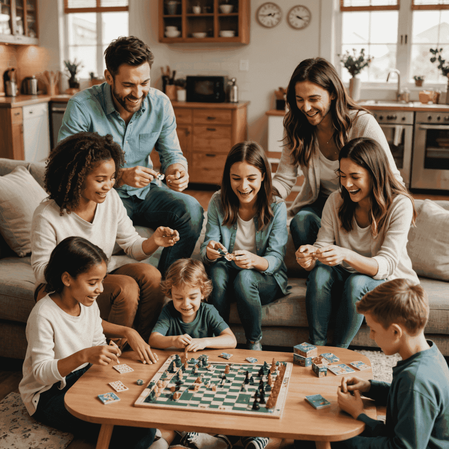
[[[0,319],[26,323],[35,305],[31,257],[0,259]]]

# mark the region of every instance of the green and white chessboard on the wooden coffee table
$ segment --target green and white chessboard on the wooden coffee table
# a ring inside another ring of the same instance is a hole
[[[153,386],[150,386],[151,382],[155,384],[160,379],[162,373],[167,370],[168,365],[175,359],[175,356],[167,358],[165,363],[160,367],[158,372],[149,381],[148,387],[146,387],[137,401],[134,403],[136,407],[147,407],[152,409],[174,409],[174,410],[195,410],[198,412],[213,412],[233,415],[245,415],[245,416],[262,416],[266,418],[281,418],[282,411],[287,397],[288,381],[291,376],[292,364],[287,362],[286,370],[284,373],[284,379],[282,382],[281,390],[277,396],[276,407],[274,409],[267,409],[266,404],[259,404],[259,410],[253,410],[252,405],[254,403],[254,393],[259,389],[259,383],[262,379],[258,377],[259,370],[263,366],[262,364],[255,363],[230,363],[230,362],[209,362],[213,365],[214,370],[208,371],[206,367],[199,367],[198,374],[190,374],[193,370],[195,363],[189,363],[189,367],[184,371],[183,384],[180,385],[179,392],[180,398],[177,401],[173,401],[173,392],[170,388],[176,386],[175,381],[170,380],[167,386],[164,388],[161,395],[151,400],[149,397]],[[225,372],[225,366],[229,365],[229,373],[226,374],[226,381],[224,385],[221,385],[222,374]],[[184,370],[184,364],[181,365]],[[174,368],[176,372],[179,368]],[[254,378],[254,383],[247,384],[248,391],[241,392],[243,381],[245,380],[246,371],[249,372],[248,377]],[[174,378],[175,373],[167,373],[167,379]],[[198,392],[189,390],[189,387],[194,385],[195,380],[200,374],[204,374]],[[273,381],[276,379],[276,375],[273,373]],[[211,387],[205,387],[204,382],[209,380],[210,383],[215,383],[217,386],[216,392],[211,390]],[[229,382],[228,382],[229,381]],[[264,383],[264,387],[267,383]],[[270,396],[269,392],[265,393],[265,402],[268,401]]]

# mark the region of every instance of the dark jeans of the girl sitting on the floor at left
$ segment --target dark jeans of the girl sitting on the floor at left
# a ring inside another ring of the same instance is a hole
[[[60,390],[59,382],[40,394],[33,418],[50,427],[96,442],[101,424],[88,423],[70,414],[64,406],[64,396],[69,388],[89,369],[87,365],[66,376],[66,386]],[[111,436],[111,448],[147,449],[153,443],[156,429],[143,427],[114,426]]]

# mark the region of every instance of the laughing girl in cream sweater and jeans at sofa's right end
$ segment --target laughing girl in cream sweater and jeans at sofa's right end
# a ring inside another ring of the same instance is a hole
[[[317,241],[300,246],[296,259],[311,272],[306,291],[310,341],[326,344],[334,308],[332,344],[347,348],[363,321],[355,308],[363,295],[398,277],[419,283],[406,248],[416,210],[372,139],[358,137],[343,146],[338,174],[341,191],[326,201]]]

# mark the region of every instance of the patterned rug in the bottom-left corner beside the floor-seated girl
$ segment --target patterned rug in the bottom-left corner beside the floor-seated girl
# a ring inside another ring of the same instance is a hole
[[[71,433],[44,426],[32,418],[18,393],[9,393],[0,402],[0,448],[65,449],[72,439]]]

